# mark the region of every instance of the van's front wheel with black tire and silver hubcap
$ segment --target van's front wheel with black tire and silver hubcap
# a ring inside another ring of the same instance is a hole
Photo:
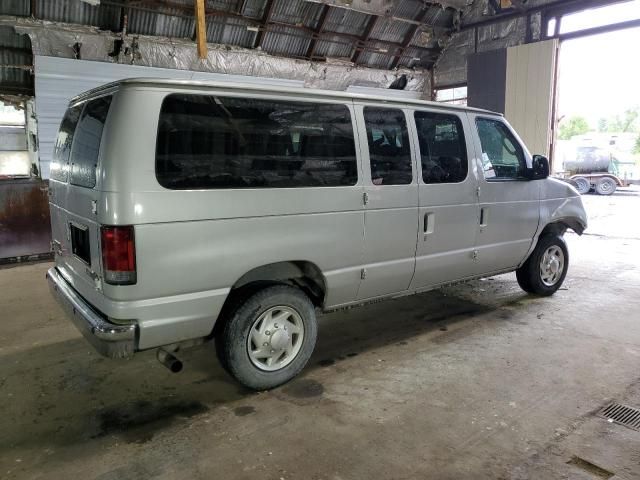
[[[516,278],[525,292],[549,296],[560,288],[568,268],[569,251],[564,239],[560,235],[545,235],[540,237],[527,261],[516,270]]]

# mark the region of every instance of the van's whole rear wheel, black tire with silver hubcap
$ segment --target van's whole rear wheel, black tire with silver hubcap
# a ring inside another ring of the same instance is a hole
[[[317,332],[309,297],[297,288],[275,285],[248,296],[231,312],[216,336],[216,350],[238,382],[268,390],[300,373],[313,353]]]

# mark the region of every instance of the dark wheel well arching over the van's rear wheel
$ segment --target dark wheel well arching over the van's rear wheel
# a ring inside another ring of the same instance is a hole
[[[300,288],[316,307],[324,305],[326,282],[322,271],[314,263],[295,260],[262,265],[248,271],[233,284],[219,315],[223,321],[216,322],[214,335],[224,323],[224,318],[235,310],[242,299],[278,284]]]

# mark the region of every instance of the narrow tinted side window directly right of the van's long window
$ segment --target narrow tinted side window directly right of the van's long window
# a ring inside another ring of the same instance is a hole
[[[364,108],[374,185],[406,185],[413,180],[411,150],[404,112],[395,108]]]

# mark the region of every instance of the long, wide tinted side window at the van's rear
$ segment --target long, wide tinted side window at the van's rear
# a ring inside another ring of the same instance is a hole
[[[332,187],[358,181],[345,105],[172,94],[156,177],[169,189]]]

